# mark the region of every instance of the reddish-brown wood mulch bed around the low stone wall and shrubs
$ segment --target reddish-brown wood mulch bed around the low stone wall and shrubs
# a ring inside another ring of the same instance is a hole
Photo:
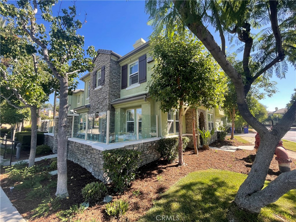
[[[246,144],[244,144],[246,145]],[[165,192],[170,186],[175,184],[179,179],[186,176],[190,172],[197,170],[207,170],[209,168],[229,170],[237,173],[248,174],[250,172],[252,162],[255,159],[255,150],[237,150],[236,152],[226,152],[220,150],[201,150],[198,155],[195,155],[192,150],[186,149],[184,152],[185,166],[178,167],[177,162],[168,164],[166,160],[157,160],[139,168],[139,177],[133,181],[131,187],[123,194],[113,195],[113,199],[127,200],[130,204],[128,212],[123,215],[119,221],[136,221],[152,207],[152,201],[157,200],[160,194]],[[38,164],[49,160],[37,162]],[[43,163],[46,164],[46,163]],[[291,170],[296,169],[296,160],[291,163]],[[73,204],[83,202],[81,189],[92,181],[97,181],[91,173],[80,165],[71,161],[67,161],[68,170],[68,192],[69,199],[63,199],[61,210],[69,209]],[[271,161],[268,170],[267,180],[274,180],[279,175],[278,163],[276,160]],[[156,176],[162,176],[157,180]],[[71,177],[73,177],[71,179]],[[9,193],[9,186],[14,184],[7,178],[7,174],[1,174],[1,186],[9,199],[15,204],[17,210],[26,219],[30,218],[30,210],[36,207],[41,200],[36,198],[34,201],[25,200],[25,190],[14,191]],[[50,179],[57,180],[57,176],[52,176]],[[6,183],[5,183],[6,182]],[[139,190],[141,194],[138,197],[133,196],[132,191]],[[51,190],[54,196],[55,189]],[[117,221],[116,219],[108,218],[105,215],[105,207],[103,204],[89,207],[82,214],[76,215],[72,220],[81,219],[81,221],[90,221],[92,218],[97,221]],[[59,221],[55,216],[55,212],[42,218],[36,218],[32,221],[36,222],[56,222]]]

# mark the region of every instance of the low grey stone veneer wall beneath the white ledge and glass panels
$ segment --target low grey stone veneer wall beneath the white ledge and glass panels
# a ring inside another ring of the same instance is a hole
[[[140,167],[160,158],[160,153],[157,152],[157,146],[158,141],[149,141],[128,145],[120,149],[134,149],[140,151],[142,160],[138,164]],[[103,182],[109,181],[109,178],[103,171],[104,161],[101,150],[75,141],[68,141],[67,159],[86,168],[95,178]]]

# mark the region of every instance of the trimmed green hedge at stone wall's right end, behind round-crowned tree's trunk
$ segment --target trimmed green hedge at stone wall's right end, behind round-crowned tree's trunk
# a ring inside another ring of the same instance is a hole
[[[182,136],[182,141],[184,151],[190,139],[187,136]],[[158,144],[157,151],[160,152],[163,159],[171,163],[178,157],[178,137],[160,139]]]

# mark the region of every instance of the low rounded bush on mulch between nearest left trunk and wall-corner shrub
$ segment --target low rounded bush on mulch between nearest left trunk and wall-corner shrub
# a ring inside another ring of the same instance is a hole
[[[82,189],[82,196],[85,201],[95,204],[101,201],[108,194],[107,187],[102,182],[86,184]]]

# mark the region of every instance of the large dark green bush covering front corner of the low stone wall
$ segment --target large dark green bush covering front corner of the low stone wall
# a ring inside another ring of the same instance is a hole
[[[141,152],[133,149],[112,149],[103,152],[105,173],[112,179],[114,190],[123,191],[136,177]]]

